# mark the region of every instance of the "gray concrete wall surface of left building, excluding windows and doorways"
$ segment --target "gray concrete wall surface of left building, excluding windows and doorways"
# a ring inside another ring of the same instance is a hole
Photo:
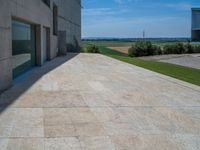
[[[42,65],[42,29],[50,28],[50,59],[57,56],[58,37],[53,35],[53,4],[58,6],[58,31],[66,31],[66,46],[81,41],[80,0],[51,0],[48,7],[42,0],[0,0],[0,92],[12,84],[13,19],[37,25],[37,64]],[[70,50],[69,50],[70,51]]]

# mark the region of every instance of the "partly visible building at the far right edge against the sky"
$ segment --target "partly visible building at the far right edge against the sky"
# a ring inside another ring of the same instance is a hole
[[[200,42],[200,8],[192,8],[192,41]]]

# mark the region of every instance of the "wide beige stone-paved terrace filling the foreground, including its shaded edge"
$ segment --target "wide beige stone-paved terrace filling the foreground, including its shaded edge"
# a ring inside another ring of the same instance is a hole
[[[1,150],[199,150],[200,88],[102,55],[35,68],[0,98]]]

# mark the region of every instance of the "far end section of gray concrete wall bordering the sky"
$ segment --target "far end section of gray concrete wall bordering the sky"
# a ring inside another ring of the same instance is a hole
[[[78,51],[81,42],[81,1],[58,0],[58,28],[66,31],[68,51]]]

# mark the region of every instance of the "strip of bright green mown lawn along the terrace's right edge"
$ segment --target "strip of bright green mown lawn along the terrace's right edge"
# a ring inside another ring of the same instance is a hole
[[[157,61],[147,61],[138,58],[131,58],[127,54],[103,46],[99,46],[99,48],[101,54],[103,55],[200,86],[199,69],[193,69],[189,67],[183,67]]]

